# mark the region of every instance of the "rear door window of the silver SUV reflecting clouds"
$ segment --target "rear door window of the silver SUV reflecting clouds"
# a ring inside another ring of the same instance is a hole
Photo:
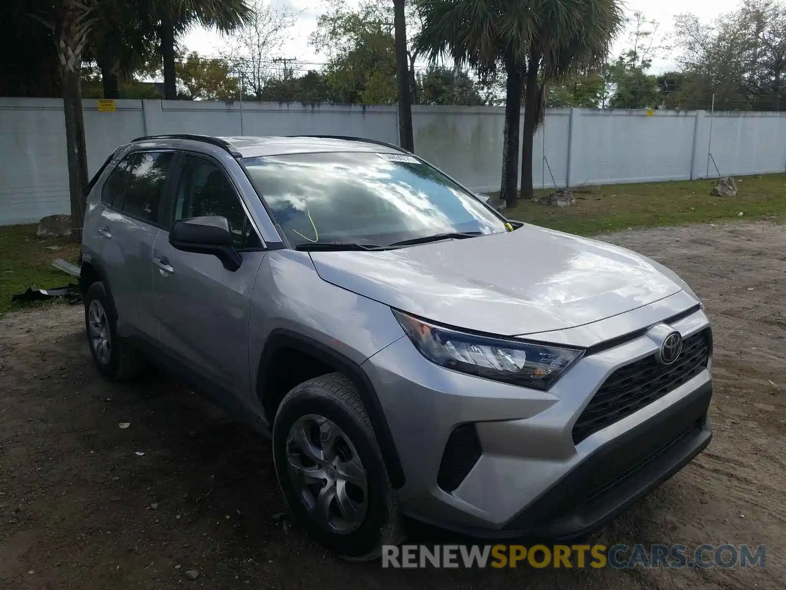
[[[156,223],[174,152],[138,152],[132,155],[123,212]]]

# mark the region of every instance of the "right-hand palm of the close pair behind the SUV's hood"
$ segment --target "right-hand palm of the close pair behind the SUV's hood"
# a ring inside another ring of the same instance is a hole
[[[604,64],[622,27],[619,0],[545,0],[533,14],[524,96],[521,196],[531,198],[535,131],[545,115],[545,83]]]

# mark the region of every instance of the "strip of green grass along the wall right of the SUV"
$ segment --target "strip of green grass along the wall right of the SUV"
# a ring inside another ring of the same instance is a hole
[[[712,197],[712,180],[584,186],[574,189],[575,207],[520,201],[504,213],[509,219],[579,235],[731,219],[786,220],[786,174],[741,176],[736,182],[736,197]]]

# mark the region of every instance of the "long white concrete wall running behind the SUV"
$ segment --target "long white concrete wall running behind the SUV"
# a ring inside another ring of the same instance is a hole
[[[86,100],[84,109],[91,175],[143,135],[399,136],[395,106],[123,100],[116,112],[98,112]],[[498,190],[504,116],[496,107],[417,105],[415,151],[472,190]],[[534,142],[534,186],[703,178],[711,130],[722,175],[786,170],[786,113],[549,109]],[[0,98],[0,225],[68,209],[62,101]]]

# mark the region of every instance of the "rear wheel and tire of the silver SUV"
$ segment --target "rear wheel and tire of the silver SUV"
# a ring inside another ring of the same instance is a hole
[[[84,303],[87,343],[98,371],[110,381],[136,377],[145,363],[138,352],[117,336],[115,304],[103,282],[90,285]]]

